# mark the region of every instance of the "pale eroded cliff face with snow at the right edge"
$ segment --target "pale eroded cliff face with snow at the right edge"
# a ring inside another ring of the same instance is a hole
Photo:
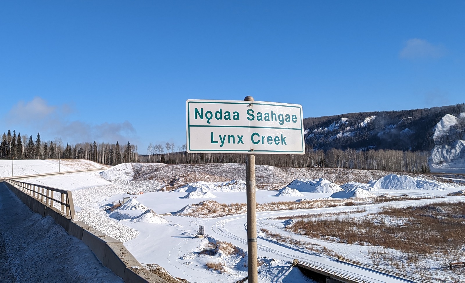
[[[433,172],[465,173],[465,112],[445,115],[434,127]]]

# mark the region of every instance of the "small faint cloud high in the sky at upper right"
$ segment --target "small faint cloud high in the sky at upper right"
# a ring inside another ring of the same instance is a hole
[[[405,47],[400,51],[402,59],[440,58],[446,53],[442,45],[433,45],[424,39],[413,38],[407,40]]]

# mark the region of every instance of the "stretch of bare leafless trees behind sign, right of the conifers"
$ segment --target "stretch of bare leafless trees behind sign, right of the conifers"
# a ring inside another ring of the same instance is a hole
[[[428,173],[427,151],[330,149],[313,150],[307,146],[304,155],[255,154],[255,163],[277,167],[347,168],[364,170]],[[166,164],[246,163],[246,154],[234,153],[171,153],[140,155],[140,162]]]

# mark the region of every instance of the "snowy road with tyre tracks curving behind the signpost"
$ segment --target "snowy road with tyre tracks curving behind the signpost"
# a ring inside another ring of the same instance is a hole
[[[364,214],[373,213],[382,206],[408,206],[414,204],[428,204],[432,202],[442,202],[445,200],[459,199],[458,197],[448,197],[445,199],[425,199],[425,200],[412,200],[412,201],[402,201],[402,202],[393,202],[393,203],[384,203],[384,204],[375,204],[375,205],[366,205],[360,206],[360,208],[365,207],[367,209]],[[332,208],[323,208],[323,209],[309,209],[309,210],[295,210],[295,211],[268,211],[268,212],[258,212],[257,219],[266,219],[268,217],[274,216],[285,216],[290,214],[306,214],[306,213],[323,213],[323,212],[333,212],[340,210],[340,207]],[[358,214],[360,215],[360,214]],[[353,215],[352,215],[353,216]],[[208,219],[205,221],[205,225],[210,227],[209,235],[221,240],[229,241],[243,249],[247,249],[246,242],[246,215],[235,215],[220,217],[214,219]],[[372,283],[399,283],[399,282],[410,282],[408,280],[400,279],[397,277],[392,277],[385,275],[373,270],[368,270],[362,267],[354,266],[351,264],[343,263],[332,259],[331,257],[326,257],[324,255],[304,250],[297,249],[295,247],[287,246],[285,244],[276,244],[268,239],[263,237],[258,237],[258,253],[261,257],[268,258],[284,258],[292,261],[292,259],[297,258],[312,264],[322,266],[324,268],[354,276],[360,279],[363,279],[367,282]],[[279,278],[276,278],[278,281]]]

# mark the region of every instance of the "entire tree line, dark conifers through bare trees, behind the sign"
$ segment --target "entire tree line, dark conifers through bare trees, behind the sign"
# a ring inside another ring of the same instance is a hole
[[[26,142],[24,142],[26,141]],[[177,149],[177,151],[175,151]],[[306,145],[306,154],[256,154],[256,164],[297,168],[347,168],[384,171],[428,173],[428,151],[401,150],[315,150]],[[177,148],[173,143],[153,145],[147,148],[147,155],[137,153],[137,145],[111,143],[63,144],[61,138],[43,141],[40,133],[32,136],[3,133],[0,140],[1,159],[86,159],[105,165],[126,162],[147,162],[166,164],[242,163],[245,154],[233,153],[187,153],[186,145]]]

